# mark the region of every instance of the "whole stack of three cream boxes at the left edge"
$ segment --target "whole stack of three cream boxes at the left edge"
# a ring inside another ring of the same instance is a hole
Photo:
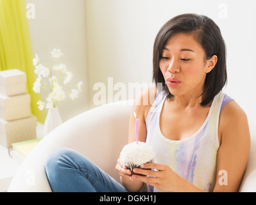
[[[26,93],[26,73],[18,69],[0,71],[0,144],[37,137],[37,118],[31,115],[30,94]]]

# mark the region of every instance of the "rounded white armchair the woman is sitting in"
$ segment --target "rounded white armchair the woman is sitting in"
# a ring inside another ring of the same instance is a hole
[[[115,164],[128,140],[132,104],[133,101],[123,101],[99,106],[51,131],[23,161],[8,192],[51,192],[44,164],[47,156],[58,147],[80,152],[119,180]],[[256,192],[256,139],[253,137],[256,136],[252,136],[252,149],[240,192]]]

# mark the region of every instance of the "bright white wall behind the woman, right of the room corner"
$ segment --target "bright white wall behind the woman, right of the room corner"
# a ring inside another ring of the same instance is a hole
[[[175,15],[199,13],[212,18],[225,38],[228,85],[225,92],[256,124],[255,9],[254,0],[87,0],[87,59],[90,106],[98,90],[123,82],[151,82],[153,41],[160,27]]]

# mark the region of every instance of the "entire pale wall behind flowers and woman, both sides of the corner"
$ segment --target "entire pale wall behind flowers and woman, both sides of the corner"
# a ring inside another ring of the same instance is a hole
[[[50,63],[49,52],[62,49],[74,81],[82,80],[83,93],[75,101],[58,104],[64,120],[96,106],[93,101],[103,83],[151,83],[153,42],[162,25],[181,13],[199,13],[221,28],[228,51],[228,85],[225,92],[256,124],[254,58],[254,0],[26,0],[35,4],[30,19],[33,52]],[[88,83],[88,84],[87,84]],[[88,85],[88,87],[87,87]],[[118,88],[118,86],[117,86]],[[121,88],[121,87],[119,87]],[[107,90],[106,90],[107,91]],[[135,94],[132,96],[134,97]],[[108,95],[107,95],[108,97]],[[128,94],[126,96],[128,99]],[[111,102],[107,99],[106,102]]]

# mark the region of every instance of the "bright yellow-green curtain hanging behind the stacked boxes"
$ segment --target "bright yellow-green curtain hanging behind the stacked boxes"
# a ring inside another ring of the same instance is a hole
[[[37,105],[40,94],[32,90],[36,79],[33,57],[25,0],[0,0],[0,70],[19,69],[26,72],[31,112],[38,122],[44,123],[46,113],[38,110]]]

